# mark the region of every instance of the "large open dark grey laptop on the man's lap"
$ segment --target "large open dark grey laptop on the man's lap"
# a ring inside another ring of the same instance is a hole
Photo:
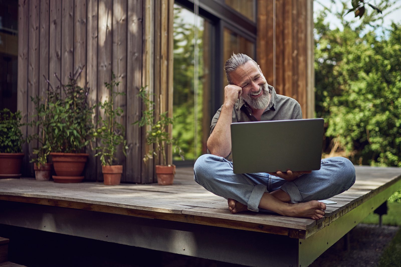
[[[234,173],[320,169],[324,119],[231,123]]]

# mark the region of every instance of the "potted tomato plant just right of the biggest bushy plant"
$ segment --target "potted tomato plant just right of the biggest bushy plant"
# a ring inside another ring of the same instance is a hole
[[[93,131],[93,136],[100,138],[101,146],[96,147],[99,151],[95,157],[100,156],[102,165],[103,180],[105,185],[119,185],[121,174],[123,172],[122,165],[113,165],[113,160],[116,160],[115,153],[117,147],[122,144],[122,151],[126,155],[126,140],[124,138],[125,128],[117,122],[117,118],[121,117],[123,110],[120,107],[113,109],[114,98],[119,95],[125,95],[123,92],[114,91],[114,86],[118,86],[120,82],[115,81],[115,75],[111,73],[111,82],[105,82],[105,86],[110,90],[110,95],[104,102],[99,102],[104,110],[104,119],[98,120],[96,123],[97,129]]]

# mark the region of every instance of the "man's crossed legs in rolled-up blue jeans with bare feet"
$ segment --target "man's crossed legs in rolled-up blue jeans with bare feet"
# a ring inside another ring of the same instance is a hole
[[[285,216],[320,219],[326,205],[316,200],[348,190],[355,181],[355,169],[345,158],[324,159],[320,170],[288,182],[267,173],[234,174],[231,162],[208,154],[196,161],[194,179],[228,199],[231,213],[262,208]]]

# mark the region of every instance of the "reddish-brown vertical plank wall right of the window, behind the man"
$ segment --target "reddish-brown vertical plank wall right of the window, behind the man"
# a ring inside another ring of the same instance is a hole
[[[257,62],[278,94],[314,117],[313,0],[258,0]]]

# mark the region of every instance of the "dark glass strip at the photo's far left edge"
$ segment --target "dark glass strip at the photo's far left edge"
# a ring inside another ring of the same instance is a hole
[[[0,110],[17,110],[18,1],[0,1]]]

